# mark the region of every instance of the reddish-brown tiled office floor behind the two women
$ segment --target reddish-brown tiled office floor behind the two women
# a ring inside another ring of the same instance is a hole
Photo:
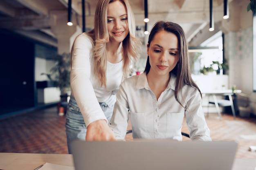
[[[238,142],[236,158],[256,158],[256,152],[248,150],[256,146],[256,118],[234,120],[225,114],[220,121],[217,114],[210,114],[206,120],[213,140]],[[185,121],[182,131],[189,132]],[[132,140],[132,134],[126,139]],[[56,107],[0,120],[0,152],[67,154],[66,142],[65,116],[58,118]]]

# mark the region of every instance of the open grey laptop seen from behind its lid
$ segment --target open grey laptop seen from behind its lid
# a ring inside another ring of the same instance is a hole
[[[76,170],[231,170],[235,141],[73,141]]]

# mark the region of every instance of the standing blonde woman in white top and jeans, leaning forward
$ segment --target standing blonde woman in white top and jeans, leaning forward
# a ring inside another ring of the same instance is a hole
[[[115,140],[108,122],[119,85],[139,57],[135,31],[128,0],[99,0],[94,29],[74,41],[66,121],[70,154],[74,139]]]

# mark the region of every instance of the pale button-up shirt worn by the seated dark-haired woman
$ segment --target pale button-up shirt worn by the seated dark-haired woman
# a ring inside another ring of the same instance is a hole
[[[191,86],[183,86],[184,102],[180,100],[186,103],[188,111],[185,111],[175,100],[175,80],[175,75],[171,74],[167,88],[157,100],[148,86],[146,73],[125,79],[117,93],[109,124],[116,139],[124,140],[130,112],[133,138],[182,141],[181,129],[185,117],[191,140],[211,141],[200,92]]]

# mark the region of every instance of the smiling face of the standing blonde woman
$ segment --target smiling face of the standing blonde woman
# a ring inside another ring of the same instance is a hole
[[[120,1],[108,5],[108,34],[110,42],[122,42],[129,33],[125,5]]]

